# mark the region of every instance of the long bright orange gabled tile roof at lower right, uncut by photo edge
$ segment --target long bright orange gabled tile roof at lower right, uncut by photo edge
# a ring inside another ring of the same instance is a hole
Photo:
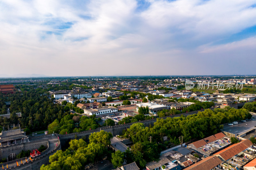
[[[244,151],[249,146],[252,145],[252,142],[249,139],[242,140],[237,144],[233,144],[220,152],[215,153],[214,155],[220,155],[224,160],[228,160],[235,156],[236,154]]]

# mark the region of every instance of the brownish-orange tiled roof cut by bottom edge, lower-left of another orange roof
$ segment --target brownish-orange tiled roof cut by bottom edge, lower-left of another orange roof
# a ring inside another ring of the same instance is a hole
[[[221,164],[222,161],[216,156],[209,156],[196,164],[188,166],[184,170],[209,170]]]

